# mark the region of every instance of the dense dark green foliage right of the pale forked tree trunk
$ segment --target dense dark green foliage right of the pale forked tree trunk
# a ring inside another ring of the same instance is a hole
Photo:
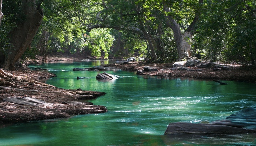
[[[255,1],[207,1],[204,7],[193,51],[211,61],[255,65]]]

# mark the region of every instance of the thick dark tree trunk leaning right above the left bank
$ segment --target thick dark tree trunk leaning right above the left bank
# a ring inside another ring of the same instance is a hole
[[[36,0],[22,0],[21,14],[25,20],[17,24],[17,27],[8,34],[12,48],[5,56],[4,68],[14,70],[14,64],[26,51],[32,42],[43,18],[40,4],[35,5]]]

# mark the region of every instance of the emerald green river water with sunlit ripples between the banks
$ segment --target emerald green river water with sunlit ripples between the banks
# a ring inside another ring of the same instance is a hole
[[[97,71],[72,71],[110,61],[35,65],[57,75],[47,84],[65,89],[106,92],[95,105],[108,112],[72,118],[0,125],[0,146],[249,146],[256,134],[163,135],[171,122],[207,123],[256,107],[256,84],[188,78],[161,79],[135,72],[108,71],[120,78],[96,80]],[[89,77],[77,80],[77,76]]]

